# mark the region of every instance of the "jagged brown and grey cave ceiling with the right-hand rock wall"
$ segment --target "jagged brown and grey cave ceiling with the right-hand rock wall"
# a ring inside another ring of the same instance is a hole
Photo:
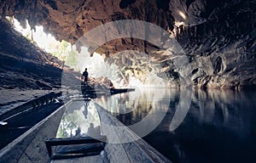
[[[181,79],[186,77],[196,87],[238,88],[256,84],[255,6],[254,0],[3,0],[0,13],[15,16],[23,25],[26,20],[32,27],[44,25],[57,39],[72,43],[97,25],[114,20],[151,22],[181,45],[188,59],[185,65],[177,66],[178,59],[164,57],[168,47],[158,49],[139,39],[115,39],[92,51],[134,74],[151,70],[164,74],[171,86],[183,86]],[[151,65],[137,53],[114,54],[126,49],[148,53],[157,62]]]

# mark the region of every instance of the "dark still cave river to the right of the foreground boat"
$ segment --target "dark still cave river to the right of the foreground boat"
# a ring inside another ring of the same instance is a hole
[[[160,124],[143,139],[174,163],[227,163],[256,162],[255,99],[253,91],[137,88],[97,102],[127,126],[153,114],[147,124]]]

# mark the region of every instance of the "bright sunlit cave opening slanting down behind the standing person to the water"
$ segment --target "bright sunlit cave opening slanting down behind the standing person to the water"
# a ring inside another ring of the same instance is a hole
[[[46,34],[43,26],[35,26],[34,31],[27,20],[26,29],[24,29],[15,18],[7,17],[7,19],[11,21],[15,30],[19,31],[28,40],[35,42],[45,52],[53,54],[58,59],[65,60],[65,65],[72,67],[74,70],[79,70],[81,73],[87,68],[91,77],[108,77],[115,87],[166,87],[166,83],[155,74],[149,74],[144,82],[130,75],[128,77],[129,85],[126,85],[124,79],[119,74],[119,67],[114,64],[108,65],[101,54],[94,53],[93,57],[90,57],[88,49],[84,47],[78,53],[75,46],[72,46],[71,43],[59,42],[52,35]]]

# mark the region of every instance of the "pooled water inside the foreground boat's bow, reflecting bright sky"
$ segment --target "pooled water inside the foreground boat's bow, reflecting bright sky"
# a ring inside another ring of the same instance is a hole
[[[101,135],[101,123],[95,105],[78,100],[67,105],[56,138],[96,137]]]

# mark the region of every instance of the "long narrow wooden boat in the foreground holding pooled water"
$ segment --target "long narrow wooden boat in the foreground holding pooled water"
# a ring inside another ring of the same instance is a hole
[[[72,98],[0,151],[0,162],[38,161],[171,162],[90,98]]]

